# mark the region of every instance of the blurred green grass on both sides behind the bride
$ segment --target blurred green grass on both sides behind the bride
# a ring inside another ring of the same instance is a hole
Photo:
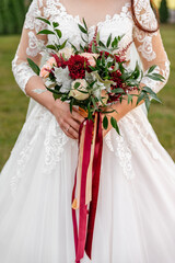
[[[163,104],[152,103],[149,119],[161,144],[175,160],[175,25],[161,26],[161,33],[171,60],[171,77],[159,93]],[[0,36],[0,170],[23,126],[28,104],[11,72],[19,41],[20,36]]]

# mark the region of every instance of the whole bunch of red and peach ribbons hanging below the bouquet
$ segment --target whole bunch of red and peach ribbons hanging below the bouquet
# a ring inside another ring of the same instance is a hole
[[[75,245],[75,262],[84,255],[91,259],[100,187],[103,135],[101,113],[86,119],[79,130],[79,157],[72,191],[72,220]],[[79,230],[75,211],[79,209]]]

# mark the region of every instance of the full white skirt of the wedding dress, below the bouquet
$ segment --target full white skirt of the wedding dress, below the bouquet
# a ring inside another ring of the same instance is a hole
[[[175,164],[139,106],[103,141],[92,261],[175,262]],[[73,263],[78,141],[36,104],[0,174],[0,262]]]

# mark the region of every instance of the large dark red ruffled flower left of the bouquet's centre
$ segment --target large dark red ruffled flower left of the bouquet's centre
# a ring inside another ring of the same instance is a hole
[[[84,79],[89,60],[80,55],[71,56],[68,60],[69,76],[72,79]]]

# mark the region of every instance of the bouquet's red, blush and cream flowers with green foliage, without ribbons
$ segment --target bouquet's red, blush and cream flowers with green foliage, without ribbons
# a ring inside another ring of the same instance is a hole
[[[44,79],[46,89],[54,93],[55,99],[69,102],[70,111],[73,105],[78,105],[80,110],[88,113],[89,119],[93,119],[95,112],[103,112],[103,127],[107,129],[108,118],[105,114],[115,111],[114,102],[127,100],[130,103],[133,96],[138,96],[137,103],[144,100],[149,110],[150,99],[159,101],[156,94],[149,87],[140,90],[140,80],[143,73],[138,64],[135,70],[127,69],[125,55],[131,43],[125,49],[119,50],[118,43],[122,36],[112,39],[110,34],[107,42],[103,43],[96,28],[93,39],[89,43],[89,31],[83,20],[84,26],[79,24],[79,28],[83,34],[84,45],[80,44],[78,49],[72,43],[69,43],[69,39],[60,43],[62,33],[58,28],[58,23],[38,19],[50,27],[38,34],[52,34],[57,42],[44,47],[48,59],[42,69],[31,59],[28,59],[28,64]],[[66,46],[67,43],[70,44],[69,47]],[[155,67],[151,67],[147,76],[162,81],[161,75],[153,73]],[[130,91],[133,90],[140,91],[140,94],[131,94]],[[43,90],[35,90],[35,92],[39,93]],[[110,123],[119,133],[114,117],[110,117]]]

